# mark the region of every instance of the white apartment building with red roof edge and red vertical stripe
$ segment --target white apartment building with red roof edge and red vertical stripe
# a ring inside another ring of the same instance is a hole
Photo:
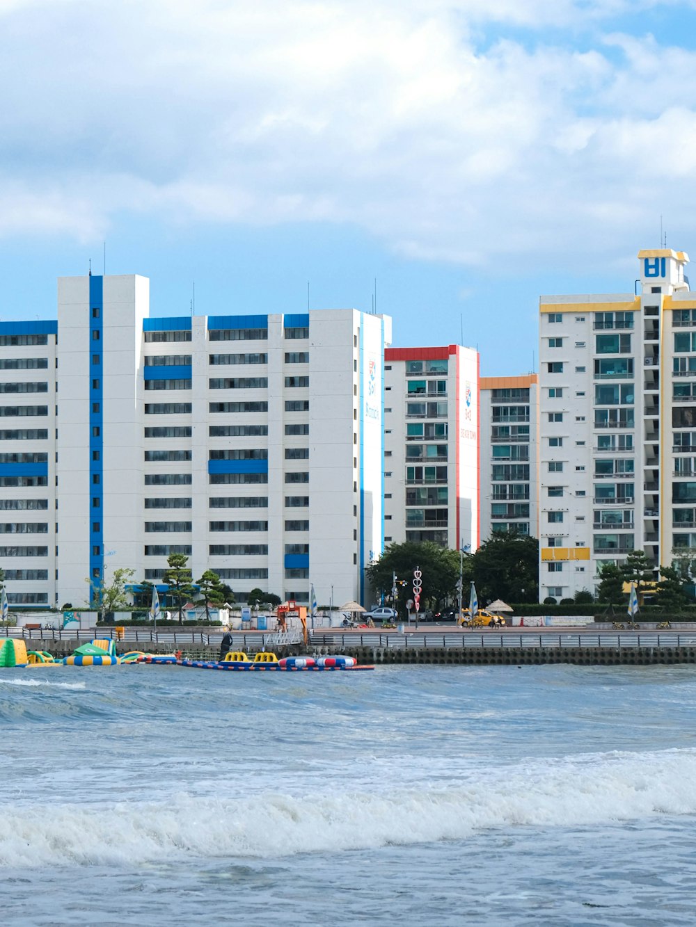
[[[384,541],[480,543],[479,355],[389,348],[384,355]]]

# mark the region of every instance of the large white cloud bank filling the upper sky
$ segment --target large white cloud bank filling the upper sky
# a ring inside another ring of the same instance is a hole
[[[696,193],[694,56],[573,43],[636,8],[0,0],[0,235],[85,240],[131,211],[351,222],[463,263],[634,248]]]

